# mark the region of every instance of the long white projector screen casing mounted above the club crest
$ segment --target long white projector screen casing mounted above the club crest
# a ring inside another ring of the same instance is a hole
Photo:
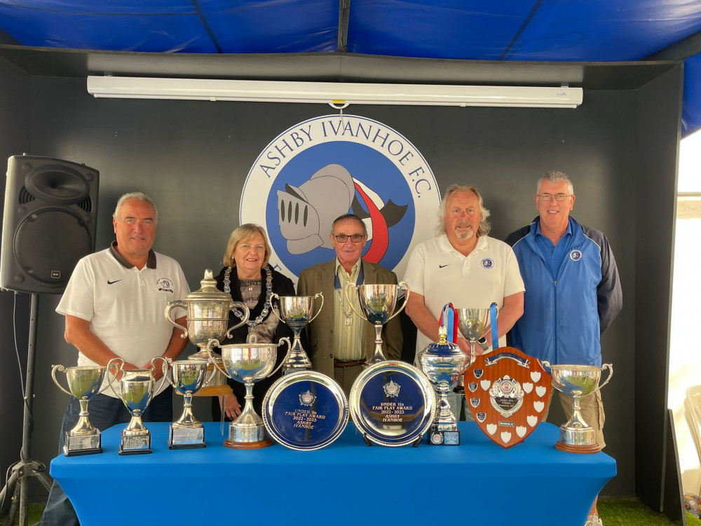
[[[238,81],[88,76],[88,93],[123,99],[236,100],[322,104],[406,104],[576,108],[582,88]]]

